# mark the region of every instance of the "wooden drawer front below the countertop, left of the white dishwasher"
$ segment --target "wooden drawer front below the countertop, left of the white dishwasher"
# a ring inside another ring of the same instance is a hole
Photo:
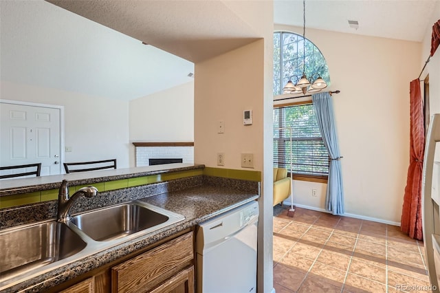
[[[194,259],[192,232],[111,268],[112,292],[147,292]]]

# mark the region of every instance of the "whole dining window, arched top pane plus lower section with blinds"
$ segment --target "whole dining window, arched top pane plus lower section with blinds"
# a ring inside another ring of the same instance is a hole
[[[283,94],[289,78],[302,76],[303,70],[308,78],[319,74],[330,84],[327,63],[314,43],[292,32],[275,32],[274,96]],[[311,102],[274,106],[274,167],[291,166],[296,180],[327,180],[329,174],[329,153]]]

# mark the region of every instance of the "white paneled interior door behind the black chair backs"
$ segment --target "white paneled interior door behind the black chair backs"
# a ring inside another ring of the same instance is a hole
[[[1,102],[0,116],[0,166],[41,162],[42,176],[61,174],[61,109]]]

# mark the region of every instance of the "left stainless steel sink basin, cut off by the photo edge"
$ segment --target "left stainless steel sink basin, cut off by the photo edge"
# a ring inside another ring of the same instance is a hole
[[[86,247],[65,224],[46,221],[0,232],[0,274],[8,279],[66,259]]]

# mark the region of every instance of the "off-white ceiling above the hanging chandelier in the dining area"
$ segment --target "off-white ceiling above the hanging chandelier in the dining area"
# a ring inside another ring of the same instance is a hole
[[[423,40],[439,0],[307,0],[307,28],[406,41]],[[440,15],[438,16],[440,18]],[[358,21],[350,28],[348,21]],[[303,1],[274,0],[274,23],[303,27]]]

